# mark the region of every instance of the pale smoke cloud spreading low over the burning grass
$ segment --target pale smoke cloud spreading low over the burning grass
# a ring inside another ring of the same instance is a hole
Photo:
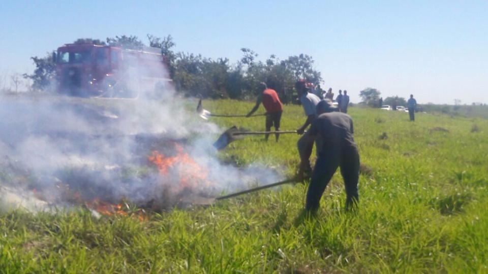
[[[57,210],[99,198],[164,209],[185,195],[215,197],[280,179],[258,163],[220,163],[212,144],[224,129],[185,104],[196,100],[0,97],[0,205]],[[156,155],[173,161],[158,166]]]

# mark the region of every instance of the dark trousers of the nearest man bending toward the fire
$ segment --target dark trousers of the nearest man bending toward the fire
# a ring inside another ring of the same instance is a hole
[[[354,203],[359,201],[357,193],[359,154],[356,148],[348,148],[340,153],[321,153],[319,155],[307,191],[306,210],[318,210],[320,198],[338,167],[341,167],[341,175],[346,189],[346,208],[351,208]]]

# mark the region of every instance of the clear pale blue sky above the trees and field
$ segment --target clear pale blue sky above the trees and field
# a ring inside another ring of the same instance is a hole
[[[351,101],[373,87],[419,104],[488,104],[488,1],[2,1],[0,76],[78,38],[171,35],[176,52],[300,53]]]

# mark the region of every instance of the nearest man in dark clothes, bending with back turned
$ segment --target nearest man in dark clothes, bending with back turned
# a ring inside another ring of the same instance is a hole
[[[310,133],[304,141],[304,158],[308,159],[312,154],[316,136],[322,140],[322,147],[317,148],[318,157],[307,191],[305,210],[314,213],[319,209],[320,198],[338,167],[346,189],[346,209],[351,209],[359,201],[359,153],[353,138],[351,116],[337,112],[330,101],[322,100],[317,105],[317,118],[307,132]]]

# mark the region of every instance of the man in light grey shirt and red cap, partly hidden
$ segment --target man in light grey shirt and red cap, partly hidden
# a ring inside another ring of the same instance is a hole
[[[320,98],[317,95],[309,92],[309,89],[306,86],[306,82],[304,80],[299,80],[295,83],[295,89],[298,93],[298,97],[300,98],[301,106],[303,107],[303,111],[305,115],[307,115],[307,120],[305,123],[296,130],[299,135],[302,135],[296,146],[298,148],[298,154],[300,155],[300,170],[299,173],[303,174],[306,173],[310,175],[312,173],[312,166],[310,165],[309,157],[305,157],[305,147],[307,145],[307,140],[309,139],[309,132],[305,131],[305,129],[314,121],[316,117],[316,106],[319,104]],[[319,147],[320,144],[316,143],[316,146]]]

